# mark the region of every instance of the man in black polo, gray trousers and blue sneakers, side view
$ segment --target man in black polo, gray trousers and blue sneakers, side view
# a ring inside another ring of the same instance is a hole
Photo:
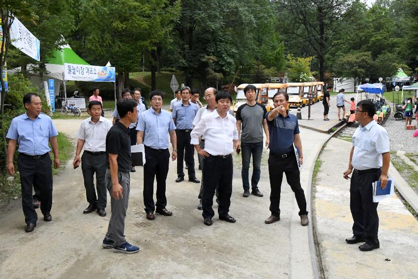
[[[112,216],[102,246],[116,253],[136,253],[139,248],[125,240],[124,228],[129,201],[129,172],[131,170],[131,140],[129,124],[138,116],[137,104],[132,99],[120,100],[117,105],[120,120],[106,135],[106,187],[110,193]]]

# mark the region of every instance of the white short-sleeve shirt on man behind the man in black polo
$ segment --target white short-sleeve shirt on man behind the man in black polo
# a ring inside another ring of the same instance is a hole
[[[100,117],[96,124],[91,122],[91,117],[83,120],[77,137],[84,140],[84,150],[90,152],[106,151],[106,135],[112,127],[112,122]]]

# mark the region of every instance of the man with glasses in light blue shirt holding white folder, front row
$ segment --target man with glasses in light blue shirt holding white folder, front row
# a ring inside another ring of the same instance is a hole
[[[165,195],[166,179],[170,152],[168,151],[168,135],[173,145],[171,159],[177,158],[176,125],[168,111],[161,109],[163,93],[154,90],[149,94],[151,108],[141,114],[137,129],[137,144],[144,144],[144,204],[147,219],[153,220],[154,210],[164,216],[172,216],[173,213],[166,209],[167,198]],[[157,181],[157,202],[154,204],[154,178]]]

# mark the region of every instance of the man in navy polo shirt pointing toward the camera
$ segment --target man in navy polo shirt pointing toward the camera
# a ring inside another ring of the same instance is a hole
[[[289,95],[279,92],[273,96],[274,109],[267,114],[269,126],[269,176],[270,176],[270,211],[271,216],[264,222],[271,224],[280,220],[280,191],[283,180],[283,172],[286,174],[287,183],[295,193],[299,206],[300,223],[306,226],[309,223],[306,211],[306,199],[300,186],[300,173],[295,147],[299,152],[300,164],[302,164],[302,142],[299,136],[299,124],[296,116],[289,114],[286,108],[289,105]]]

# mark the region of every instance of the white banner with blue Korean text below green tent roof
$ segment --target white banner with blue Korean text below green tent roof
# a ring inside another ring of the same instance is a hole
[[[64,63],[64,80],[115,82],[115,67]]]

